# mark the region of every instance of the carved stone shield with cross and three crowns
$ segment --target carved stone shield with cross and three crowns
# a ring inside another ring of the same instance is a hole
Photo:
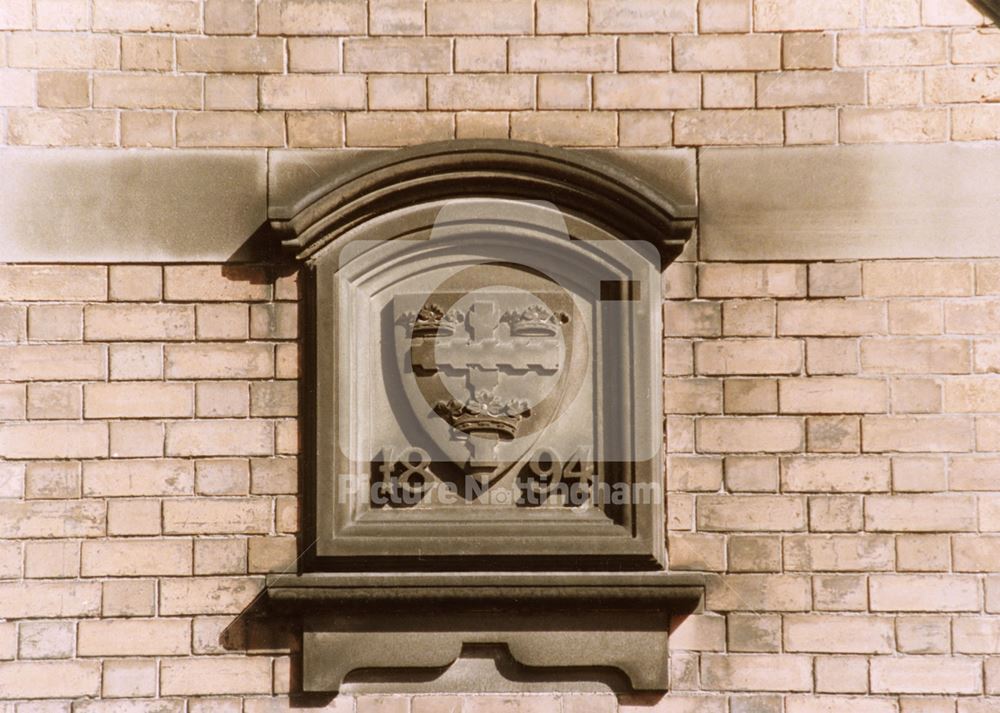
[[[549,281],[397,293],[392,317],[412,445],[482,486],[523,464],[586,372],[582,315]]]

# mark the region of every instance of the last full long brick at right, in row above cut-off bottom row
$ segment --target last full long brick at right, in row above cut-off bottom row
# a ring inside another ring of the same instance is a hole
[[[875,693],[981,693],[979,662],[947,656],[876,658],[871,663]]]

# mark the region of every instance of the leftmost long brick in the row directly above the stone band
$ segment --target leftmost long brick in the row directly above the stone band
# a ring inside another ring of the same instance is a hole
[[[8,143],[20,146],[114,146],[109,111],[7,111]]]

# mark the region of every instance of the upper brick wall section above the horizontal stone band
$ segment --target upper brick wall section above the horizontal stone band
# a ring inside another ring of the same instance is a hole
[[[996,139],[965,0],[3,0],[11,145]]]

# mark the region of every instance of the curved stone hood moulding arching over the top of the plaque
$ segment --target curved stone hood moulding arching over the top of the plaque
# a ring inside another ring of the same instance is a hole
[[[697,210],[586,153],[522,141],[424,144],[362,161],[272,220],[284,248],[304,260],[359,224],[414,203],[461,196],[548,200],[652,243],[664,264],[691,236]]]

